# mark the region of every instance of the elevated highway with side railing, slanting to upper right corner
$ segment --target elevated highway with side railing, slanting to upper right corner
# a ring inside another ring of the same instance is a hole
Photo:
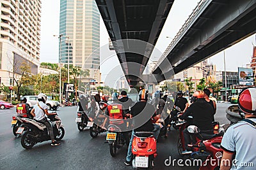
[[[202,0],[152,73],[157,82],[171,79],[171,73],[179,73],[255,32],[256,0]]]

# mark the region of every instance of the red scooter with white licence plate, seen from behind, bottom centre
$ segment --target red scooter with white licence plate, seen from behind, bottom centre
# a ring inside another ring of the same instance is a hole
[[[152,132],[135,132],[132,140],[132,167],[153,168],[156,151],[156,139]]]

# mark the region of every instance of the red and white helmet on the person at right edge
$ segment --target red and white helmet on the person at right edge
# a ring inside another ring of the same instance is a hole
[[[256,88],[246,87],[238,96],[238,106],[246,114],[256,115]]]

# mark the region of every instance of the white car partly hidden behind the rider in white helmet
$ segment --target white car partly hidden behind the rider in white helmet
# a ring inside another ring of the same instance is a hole
[[[23,97],[26,97],[29,107],[33,107],[35,104],[38,103],[37,96],[23,96]],[[56,110],[60,106],[60,103],[58,101],[52,101],[49,99],[46,100],[45,104],[47,104],[48,110]]]

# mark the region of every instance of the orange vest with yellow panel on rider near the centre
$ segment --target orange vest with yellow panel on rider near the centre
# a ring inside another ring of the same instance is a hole
[[[109,113],[109,124],[123,124],[124,120],[116,120],[123,119],[123,111],[122,104],[110,104],[108,105],[108,113]]]

